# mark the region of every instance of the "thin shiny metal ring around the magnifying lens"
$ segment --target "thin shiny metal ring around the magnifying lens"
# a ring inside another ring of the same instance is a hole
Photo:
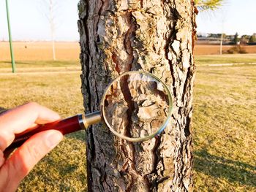
[[[111,85],[113,85],[113,82],[116,82],[116,80],[120,79],[121,77],[123,77],[124,75],[127,75],[127,74],[135,74],[135,73],[138,73],[138,74],[146,74],[146,75],[149,75],[151,77],[153,77],[154,79],[158,80],[159,82],[162,83],[162,85],[164,86],[165,88],[165,91],[167,91],[167,96],[168,96],[168,99],[169,99],[169,109],[168,109],[168,114],[167,114],[167,118],[166,120],[162,123],[162,126],[160,126],[157,131],[155,131],[153,134],[150,134],[146,137],[126,137],[122,134],[119,134],[117,131],[115,131],[112,126],[110,126],[110,124],[108,123],[108,120],[106,119],[106,116],[105,116],[105,97],[107,95],[107,92],[108,92],[108,89],[110,88]],[[156,75],[154,74],[151,74],[149,72],[143,72],[143,71],[130,71],[130,72],[124,72],[123,74],[120,74],[118,77],[116,77],[115,80],[113,80],[110,85],[108,85],[108,87],[105,89],[105,92],[102,96],[102,102],[101,102],[101,112],[102,112],[102,117],[106,123],[106,125],[108,126],[108,128],[110,128],[110,131],[115,134],[117,137],[120,137],[121,139],[126,139],[127,141],[129,142],[143,142],[143,141],[146,141],[148,139],[151,139],[153,137],[155,137],[157,134],[160,134],[164,129],[165,127],[167,126],[167,124],[169,123],[169,120],[170,120],[170,116],[172,114],[172,110],[173,110],[173,96],[172,94],[170,93],[170,90],[168,88],[168,86],[165,84],[165,82],[163,82],[161,79],[159,79],[159,77],[157,77]]]

